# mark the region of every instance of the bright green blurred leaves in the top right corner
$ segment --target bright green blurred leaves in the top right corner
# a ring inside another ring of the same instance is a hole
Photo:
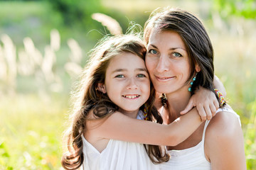
[[[256,17],[255,0],[215,0],[214,7],[224,18],[227,16]]]

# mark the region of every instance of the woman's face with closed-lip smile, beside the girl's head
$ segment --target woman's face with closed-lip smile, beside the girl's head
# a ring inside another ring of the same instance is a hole
[[[178,33],[153,29],[146,52],[146,68],[157,92],[188,91],[191,70],[188,52]]]

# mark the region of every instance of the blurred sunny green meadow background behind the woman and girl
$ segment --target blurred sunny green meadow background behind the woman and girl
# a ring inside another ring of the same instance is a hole
[[[162,6],[191,11],[206,26],[215,74],[242,120],[247,169],[256,169],[254,0],[0,1],[0,169],[62,169],[70,91],[87,52],[111,30],[92,13],[125,33]]]

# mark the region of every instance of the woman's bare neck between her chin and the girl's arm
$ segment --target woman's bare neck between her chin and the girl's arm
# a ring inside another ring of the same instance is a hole
[[[175,120],[180,117],[180,112],[186,108],[188,101],[191,98],[191,93],[183,89],[181,91],[175,91],[170,94],[166,94],[168,109],[169,109],[169,120]]]

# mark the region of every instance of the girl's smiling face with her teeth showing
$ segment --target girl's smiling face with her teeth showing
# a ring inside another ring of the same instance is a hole
[[[130,52],[113,57],[107,67],[102,89],[122,113],[133,112],[137,115],[139,107],[150,94],[149,74],[144,60]]]

